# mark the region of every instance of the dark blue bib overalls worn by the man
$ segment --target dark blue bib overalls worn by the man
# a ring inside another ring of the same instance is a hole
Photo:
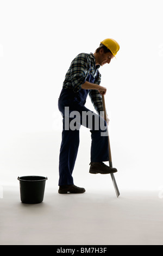
[[[92,75],[89,75],[86,78],[86,81],[94,83],[95,78]],[[80,124],[90,129],[91,162],[104,162],[109,160],[108,137],[101,136],[101,132],[106,132],[106,128],[105,130],[101,130],[101,126],[99,125],[99,129],[95,129],[95,121],[92,122],[91,127],[89,125],[89,122],[86,122],[86,124],[82,123],[82,112],[90,111],[90,109],[84,106],[88,93],[89,90],[86,89],[80,89],[78,93],[74,93],[73,89],[62,88],[59,96],[58,108],[63,117],[62,141],[59,155],[59,186],[73,184],[72,172],[74,164],[76,162],[79,147],[79,129],[65,129],[66,116],[70,116],[72,111],[78,111],[80,113]],[[68,113],[65,112],[65,107],[68,107]],[[92,113],[93,115],[95,115],[96,118],[101,119],[99,115],[94,112]],[[69,121],[71,121],[72,119],[73,118],[68,118]],[[104,120],[103,123],[106,127],[106,122]]]

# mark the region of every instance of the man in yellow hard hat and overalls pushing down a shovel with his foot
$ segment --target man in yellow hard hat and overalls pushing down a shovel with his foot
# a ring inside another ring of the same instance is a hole
[[[100,86],[101,74],[99,67],[110,63],[115,57],[120,46],[114,39],[105,39],[101,42],[95,53],[80,53],[72,60],[60,93],[58,107],[63,117],[62,142],[59,156],[59,193],[84,193],[85,189],[73,183],[72,172],[79,147],[79,129],[84,125],[91,131],[91,163],[90,173],[108,174],[117,172],[103,162],[109,160],[108,138],[102,136],[106,131],[106,122],[101,117],[103,111],[102,95],[106,88]],[[91,102],[98,114],[85,107],[86,97],[90,96]],[[84,120],[83,113],[91,112],[92,121]],[[76,114],[76,122],[74,115]],[[78,116],[78,117],[77,117]],[[99,121],[98,128],[96,121]],[[105,122],[105,130],[101,128],[101,121]],[[68,122],[68,125],[67,125]],[[74,127],[76,123],[76,127]],[[108,122],[107,122],[108,123]],[[73,126],[72,126],[73,124]]]

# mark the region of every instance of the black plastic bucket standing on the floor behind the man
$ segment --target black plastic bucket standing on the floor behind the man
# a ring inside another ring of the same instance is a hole
[[[17,179],[20,181],[20,197],[22,203],[38,204],[43,201],[47,177],[21,176]]]

